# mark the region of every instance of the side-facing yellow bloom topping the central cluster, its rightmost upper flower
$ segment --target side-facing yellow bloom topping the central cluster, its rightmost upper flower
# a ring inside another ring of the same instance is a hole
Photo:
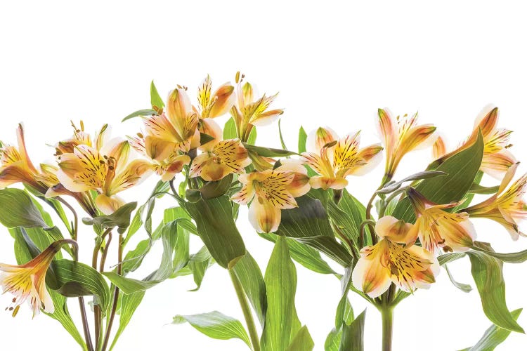
[[[271,124],[280,117],[280,114],[284,113],[284,110],[268,110],[278,93],[271,96],[263,94],[261,98],[256,99],[253,86],[248,81],[242,85],[244,77],[243,74],[240,76],[240,72],[236,74],[238,104],[233,106],[230,113],[238,128],[238,136],[242,141],[247,141],[253,126]]]

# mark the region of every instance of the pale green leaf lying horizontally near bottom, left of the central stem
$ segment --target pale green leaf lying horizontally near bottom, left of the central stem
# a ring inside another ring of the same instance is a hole
[[[226,316],[225,314],[212,311],[208,313],[177,315],[174,317],[172,324],[181,324],[188,322],[200,333],[204,333],[209,338],[228,340],[238,338],[247,346],[251,347],[249,336],[238,319]]]

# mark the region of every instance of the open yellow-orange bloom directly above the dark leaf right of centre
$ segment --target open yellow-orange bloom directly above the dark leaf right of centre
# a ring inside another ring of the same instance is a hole
[[[310,150],[302,157],[320,175],[311,177],[311,187],[342,189],[348,185],[347,176],[360,176],[375,167],[382,147],[370,145],[359,149],[359,140],[359,132],[341,139],[330,128],[320,127],[310,133],[306,140]]]

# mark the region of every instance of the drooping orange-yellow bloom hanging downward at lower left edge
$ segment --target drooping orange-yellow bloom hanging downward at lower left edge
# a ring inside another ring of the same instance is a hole
[[[0,263],[0,286],[4,293],[12,293],[13,305],[8,310],[13,311],[13,317],[20,305],[27,301],[33,310],[33,317],[40,310],[53,313],[53,300],[46,289],[46,272],[60,246],[70,240],[55,241],[37,257],[23,265],[6,265]]]

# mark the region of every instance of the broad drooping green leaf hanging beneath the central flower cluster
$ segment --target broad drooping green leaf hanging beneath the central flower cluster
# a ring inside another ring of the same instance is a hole
[[[233,267],[245,255],[245,244],[234,223],[228,197],[186,202],[185,207],[214,260],[221,267]]]

